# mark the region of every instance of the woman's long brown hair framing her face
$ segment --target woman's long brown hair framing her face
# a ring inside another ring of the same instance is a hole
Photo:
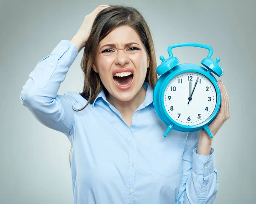
[[[130,26],[132,29],[134,29],[140,36],[140,40],[145,46],[145,50],[150,58],[145,82],[149,83],[151,88],[154,89],[157,82],[157,62],[153,39],[145,19],[140,12],[133,7],[125,5],[111,5],[100,11],[96,16],[92,25],[90,36],[85,43],[84,54],[80,65],[84,74],[84,88],[83,92],[79,92],[79,94],[87,100],[87,104],[79,110],[75,110],[73,108],[74,111],[81,111],[86,108],[89,103],[93,103],[101,89],[104,89],[105,93],[107,92],[105,86],[100,80],[99,74],[93,70],[94,59],[96,57],[99,42],[113,29],[124,25]]]

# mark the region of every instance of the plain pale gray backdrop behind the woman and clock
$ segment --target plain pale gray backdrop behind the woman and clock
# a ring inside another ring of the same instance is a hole
[[[221,79],[231,117],[213,140],[219,189],[215,204],[255,203],[255,1],[186,0],[129,3],[81,0],[6,0],[0,2],[0,203],[71,204],[70,142],[40,124],[20,103],[22,86],[36,64],[61,40],[71,40],[84,17],[100,4],[124,3],[145,17],[160,55],[181,42],[212,46],[221,57]],[[58,94],[82,91],[82,52],[70,67]],[[180,63],[199,64],[208,50],[175,48]],[[216,77],[218,80],[220,78]]]

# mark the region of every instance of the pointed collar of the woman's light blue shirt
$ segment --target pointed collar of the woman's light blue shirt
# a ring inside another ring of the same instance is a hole
[[[146,89],[146,96],[145,99],[143,101],[144,106],[148,106],[153,102],[153,89],[151,88],[151,86],[149,85],[149,83],[145,82],[143,83],[143,87]],[[102,98],[104,101],[106,101],[107,103],[109,103],[106,99],[106,95],[104,93],[104,90],[101,89],[99,94],[96,96],[95,100],[92,103],[92,106],[94,108],[94,104],[96,103],[96,101]]]

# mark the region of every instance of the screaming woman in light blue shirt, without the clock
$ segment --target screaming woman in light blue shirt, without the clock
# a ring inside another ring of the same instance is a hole
[[[84,47],[84,89],[58,95]],[[23,86],[20,100],[72,146],[74,204],[213,203],[218,190],[212,138],[204,130],[165,138],[152,92],[157,81],[151,33],[137,9],[101,5],[71,41],[61,40]],[[215,135],[229,117],[223,83]]]

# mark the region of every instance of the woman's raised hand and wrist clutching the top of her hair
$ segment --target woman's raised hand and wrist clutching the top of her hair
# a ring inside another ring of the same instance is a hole
[[[76,35],[70,41],[71,43],[75,44],[78,47],[79,51],[84,47],[86,41],[88,40],[95,17],[100,11],[107,8],[108,6],[111,6],[111,5],[102,4],[98,6],[96,9],[94,9],[93,12],[91,12],[90,14],[84,17],[84,21],[81,27],[77,31]]]

